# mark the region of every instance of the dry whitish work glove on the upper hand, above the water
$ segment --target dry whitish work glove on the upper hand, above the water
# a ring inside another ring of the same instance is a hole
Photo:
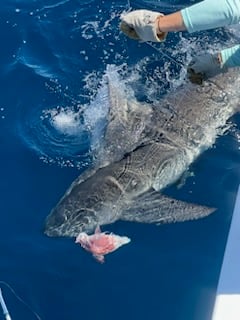
[[[150,10],[135,10],[121,15],[120,29],[125,35],[140,41],[164,41],[167,32],[161,32],[158,28],[158,17],[162,13]]]

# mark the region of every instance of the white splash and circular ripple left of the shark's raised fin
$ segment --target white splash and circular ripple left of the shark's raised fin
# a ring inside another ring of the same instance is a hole
[[[106,74],[116,74],[112,81],[119,81],[116,70],[107,71],[94,83],[89,81],[92,79],[90,75],[86,77],[84,89],[90,95],[84,99],[71,98],[71,94],[57,82],[51,92],[63,96],[70,105],[46,109],[38,105],[27,112],[21,110],[18,128],[23,141],[45,163],[80,169],[89,166],[95,150],[101,146],[110,108]],[[93,98],[89,99],[89,96]],[[83,100],[88,103],[81,103]]]

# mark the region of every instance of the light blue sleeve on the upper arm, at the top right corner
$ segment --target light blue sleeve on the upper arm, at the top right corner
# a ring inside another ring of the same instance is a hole
[[[190,33],[236,24],[240,22],[240,0],[204,0],[181,14]]]

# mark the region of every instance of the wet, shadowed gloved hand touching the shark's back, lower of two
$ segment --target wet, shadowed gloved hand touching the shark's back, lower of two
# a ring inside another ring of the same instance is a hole
[[[190,62],[187,74],[192,83],[202,84],[203,80],[225,71],[226,68],[222,66],[221,55],[219,53],[206,53],[195,57]]]

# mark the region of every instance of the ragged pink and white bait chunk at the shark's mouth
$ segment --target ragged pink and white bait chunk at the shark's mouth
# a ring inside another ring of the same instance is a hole
[[[101,232],[97,227],[95,233],[88,235],[85,232],[79,233],[75,243],[80,243],[82,248],[91,252],[97,261],[103,263],[104,255],[117,250],[131,240],[128,237],[121,237],[114,233]]]

